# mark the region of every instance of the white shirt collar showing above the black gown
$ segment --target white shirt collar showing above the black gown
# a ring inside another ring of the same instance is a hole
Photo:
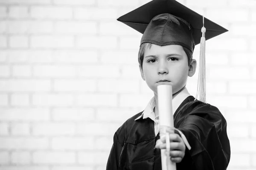
[[[177,110],[177,108],[180,106],[180,104],[189,97],[190,94],[186,87],[175,96],[175,98],[172,99],[172,114],[174,114]],[[151,100],[148,102],[148,105],[146,106],[145,110],[142,112],[142,114],[135,119],[138,120],[140,118],[150,118],[151,120],[155,121],[155,114],[154,114],[154,107],[156,106],[155,98],[151,98]]]

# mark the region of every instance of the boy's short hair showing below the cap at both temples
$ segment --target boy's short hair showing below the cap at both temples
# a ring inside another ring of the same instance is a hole
[[[152,43],[143,43],[140,46],[140,50],[139,50],[139,55],[138,55],[138,61],[140,63],[141,69],[143,69],[142,64],[143,64],[143,59],[144,59],[144,53],[145,53],[145,49],[146,48],[151,48]],[[185,51],[187,57],[188,57],[188,63],[190,65],[192,58],[193,58],[193,53],[187,49],[186,47],[183,47],[183,50]]]

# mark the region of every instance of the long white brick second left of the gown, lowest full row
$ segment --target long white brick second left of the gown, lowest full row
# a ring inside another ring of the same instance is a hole
[[[32,162],[35,164],[74,164],[76,154],[72,152],[45,152],[33,153]]]

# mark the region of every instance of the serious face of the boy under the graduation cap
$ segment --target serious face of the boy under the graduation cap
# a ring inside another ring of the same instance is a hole
[[[196,66],[196,61],[192,60]],[[195,68],[194,68],[195,69]],[[192,70],[195,73],[195,70]],[[180,45],[158,46],[152,44],[146,48],[143,59],[143,70],[140,67],[141,76],[149,88],[157,94],[157,86],[160,84],[172,85],[172,93],[178,92],[186,85],[187,77],[191,75],[191,66],[188,58]],[[167,80],[165,82],[159,82]]]

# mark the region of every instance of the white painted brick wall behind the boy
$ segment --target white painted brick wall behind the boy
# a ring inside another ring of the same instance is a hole
[[[0,0],[0,170],[105,169],[113,133],[153,96],[141,35],[116,21],[148,1]],[[207,101],[228,122],[228,170],[256,169],[256,0],[179,2],[229,29],[207,41]]]

